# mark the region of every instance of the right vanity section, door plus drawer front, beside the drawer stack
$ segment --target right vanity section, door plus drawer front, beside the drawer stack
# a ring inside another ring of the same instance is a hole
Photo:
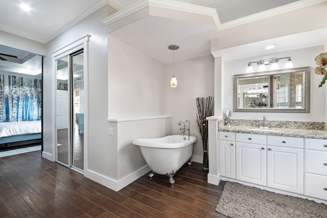
[[[267,186],[303,195],[303,138],[267,136]]]

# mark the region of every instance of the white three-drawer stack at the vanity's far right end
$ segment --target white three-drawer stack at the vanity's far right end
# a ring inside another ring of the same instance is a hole
[[[327,140],[305,139],[305,195],[327,200]]]

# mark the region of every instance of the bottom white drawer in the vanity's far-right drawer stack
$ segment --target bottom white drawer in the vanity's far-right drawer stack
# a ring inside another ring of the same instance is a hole
[[[327,176],[305,173],[305,195],[327,200]]]

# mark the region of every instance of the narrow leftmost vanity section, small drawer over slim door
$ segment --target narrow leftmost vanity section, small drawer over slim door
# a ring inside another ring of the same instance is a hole
[[[219,132],[219,169],[220,175],[236,179],[235,133]]]

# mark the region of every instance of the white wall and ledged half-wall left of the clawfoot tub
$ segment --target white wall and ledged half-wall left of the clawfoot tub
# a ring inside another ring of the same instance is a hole
[[[136,138],[171,135],[171,118],[164,112],[166,66],[130,45],[108,36],[108,117],[116,154],[115,190],[149,172]],[[152,118],[145,118],[152,117]]]

